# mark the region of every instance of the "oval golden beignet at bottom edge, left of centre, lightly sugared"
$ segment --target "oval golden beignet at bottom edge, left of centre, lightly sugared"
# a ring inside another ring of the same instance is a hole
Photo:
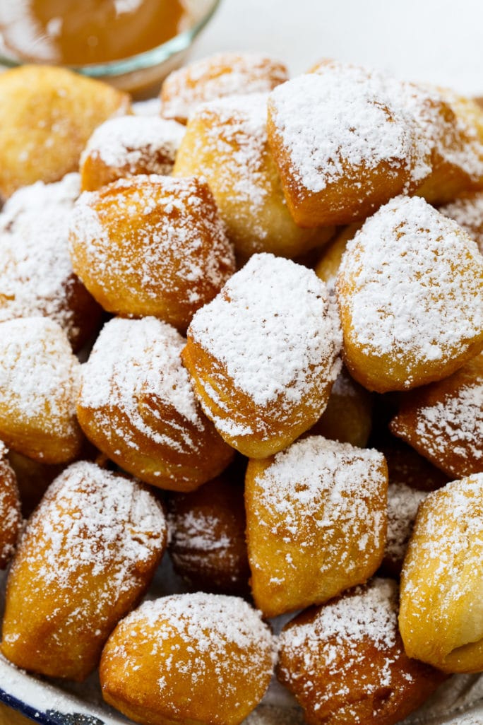
[[[104,700],[136,722],[238,725],[273,666],[259,612],[238,597],[198,593],[144,602],[127,616],[104,647],[100,676]]]

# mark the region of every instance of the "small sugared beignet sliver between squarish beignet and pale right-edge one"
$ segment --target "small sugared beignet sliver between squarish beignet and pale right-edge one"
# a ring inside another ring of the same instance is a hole
[[[385,557],[403,563],[419,504],[427,492],[418,491],[403,483],[390,483],[387,489],[387,541]]]

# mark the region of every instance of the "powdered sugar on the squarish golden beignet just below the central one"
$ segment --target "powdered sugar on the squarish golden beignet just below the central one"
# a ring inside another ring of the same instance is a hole
[[[299,439],[277,453],[256,479],[254,506],[259,526],[265,527],[270,537],[276,537],[278,552],[287,545],[293,547],[294,542],[301,550],[314,550],[324,537],[334,537],[337,529],[344,543],[327,547],[320,571],[330,571],[334,566],[353,571],[378,549],[385,533],[385,509],[380,501],[383,463],[384,457],[376,450],[359,449],[322,436]],[[306,526],[306,521],[315,525]],[[360,552],[356,562],[352,545]],[[257,552],[251,559],[252,566],[266,569],[269,564],[259,561]],[[283,569],[274,562],[269,566],[274,578],[285,581],[295,576],[295,566],[289,560],[284,561]]]

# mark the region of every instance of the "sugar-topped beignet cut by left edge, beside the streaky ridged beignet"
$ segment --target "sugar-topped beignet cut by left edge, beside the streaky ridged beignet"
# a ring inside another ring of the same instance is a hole
[[[0,438],[43,463],[67,463],[83,442],[75,417],[80,363],[49,318],[0,323]]]

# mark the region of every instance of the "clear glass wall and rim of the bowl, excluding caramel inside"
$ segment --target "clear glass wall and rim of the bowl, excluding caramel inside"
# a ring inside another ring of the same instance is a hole
[[[220,1],[185,0],[188,28],[151,50],[122,60],[67,67],[89,78],[104,80],[122,91],[130,92],[138,99],[153,96],[161,81],[185,62],[193,42],[211,20]],[[14,68],[19,65],[22,65],[21,61],[0,54],[0,70],[2,66]]]

